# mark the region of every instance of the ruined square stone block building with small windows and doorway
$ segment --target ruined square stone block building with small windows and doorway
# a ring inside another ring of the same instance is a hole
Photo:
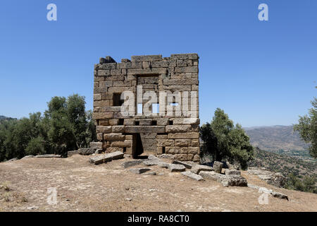
[[[94,66],[93,118],[99,141],[94,148],[133,157],[172,154],[176,160],[198,162],[198,60],[197,54],[132,56],[120,63],[101,58]],[[123,92],[135,97],[128,115],[122,109],[132,99]]]

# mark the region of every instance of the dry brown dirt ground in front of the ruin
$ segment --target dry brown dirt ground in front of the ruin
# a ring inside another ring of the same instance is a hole
[[[156,175],[133,174],[121,164],[88,162],[89,156],[30,158],[0,163],[0,211],[316,211],[317,195],[278,189],[242,172],[249,184],[287,194],[290,201],[268,197],[250,187],[197,182],[179,172],[151,167]],[[168,160],[166,160],[168,161]],[[144,167],[137,165],[134,167]],[[47,202],[56,188],[57,203]]]

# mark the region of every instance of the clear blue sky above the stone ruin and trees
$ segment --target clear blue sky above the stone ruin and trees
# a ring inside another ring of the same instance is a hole
[[[316,12],[316,0],[1,0],[0,115],[73,93],[92,109],[99,57],[197,53],[201,124],[217,107],[245,127],[296,124],[317,91]]]

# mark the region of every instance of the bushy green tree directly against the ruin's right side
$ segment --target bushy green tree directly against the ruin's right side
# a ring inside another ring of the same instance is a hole
[[[204,141],[201,153],[211,155],[213,160],[236,161],[245,169],[247,162],[254,157],[249,136],[240,124],[234,125],[222,109],[216,109],[210,124],[201,126],[200,136]]]

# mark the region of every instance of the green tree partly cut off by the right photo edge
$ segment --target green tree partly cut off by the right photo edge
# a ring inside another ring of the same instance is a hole
[[[309,145],[309,153],[317,157],[317,99],[311,101],[313,108],[309,109],[309,115],[299,117],[299,124],[294,125],[294,131],[299,131],[302,140]]]

